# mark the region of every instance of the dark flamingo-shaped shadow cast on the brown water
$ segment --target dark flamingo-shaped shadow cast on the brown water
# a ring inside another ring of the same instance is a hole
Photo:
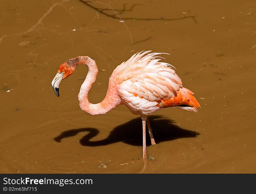
[[[196,131],[190,131],[178,127],[173,124],[173,120],[164,118],[163,116],[154,115],[150,116],[149,119],[156,143],[178,138],[196,137],[199,135]],[[95,128],[80,128],[63,131],[60,135],[55,137],[54,140],[56,142],[61,142],[63,138],[72,137],[84,131],[88,131],[89,133],[79,140],[80,144],[83,146],[102,146],[120,141],[129,145],[142,146],[142,122],[140,117],[115,127],[110,132],[109,136],[103,140],[90,141],[91,138],[99,134],[99,130]],[[146,133],[146,141],[147,145],[151,145],[148,133]]]

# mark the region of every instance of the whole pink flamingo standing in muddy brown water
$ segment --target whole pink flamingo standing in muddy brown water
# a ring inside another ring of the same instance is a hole
[[[98,68],[88,56],[78,56],[62,63],[51,82],[55,94],[59,97],[61,80],[74,73],[77,65],[88,66],[86,79],[78,94],[79,106],[90,115],[102,115],[118,105],[124,104],[135,115],[140,115],[143,131],[143,159],[146,158],[146,124],[151,144],[155,145],[148,115],[164,108],[180,108],[197,112],[200,104],[193,92],[182,87],[182,81],[175,73],[175,67],[160,62],[167,53],[141,51],[118,65],[109,78],[109,87],[104,100],[98,104],[88,101],[88,92],[93,85]]]

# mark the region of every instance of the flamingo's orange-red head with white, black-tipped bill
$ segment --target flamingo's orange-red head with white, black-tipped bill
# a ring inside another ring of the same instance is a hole
[[[65,63],[62,63],[59,67],[58,73],[51,82],[51,86],[54,90],[54,93],[58,97],[60,96],[59,85],[61,83],[61,80],[65,79],[67,76],[70,76],[72,73],[74,73],[77,67],[77,64],[72,62],[73,61],[71,60],[67,60]]]

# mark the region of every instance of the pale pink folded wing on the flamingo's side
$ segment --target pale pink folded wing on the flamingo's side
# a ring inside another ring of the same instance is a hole
[[[182,88],[181,79],[173,69],[162,66],[157,60],[152,62],[154,65],[135,69],[135,75],[123,81],[120,88],[150,102],[177,96],[177,91]]]

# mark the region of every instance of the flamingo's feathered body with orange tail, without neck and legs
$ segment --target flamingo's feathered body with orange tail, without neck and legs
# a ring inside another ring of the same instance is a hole
[[[115,82],[122,104],[135,115],[151,115],[167,107],[196,112],[200,105],[193,92],[182,87],[173,66],[159,62],[161,53],[148,52],[134,54],[113,71],[109,82]]]

